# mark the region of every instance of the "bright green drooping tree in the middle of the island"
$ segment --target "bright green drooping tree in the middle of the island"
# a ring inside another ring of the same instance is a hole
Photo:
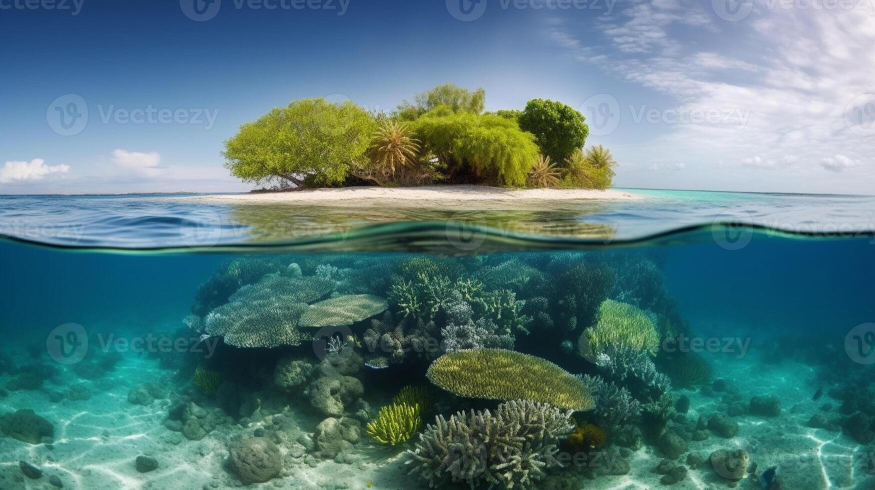
[[[413,125],[426,151],[445,165],[451,182],[523,186],[537,163],[535,137],[511,120],[437,108]]]

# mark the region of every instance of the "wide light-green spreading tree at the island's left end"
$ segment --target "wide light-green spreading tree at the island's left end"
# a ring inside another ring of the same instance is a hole
[[[255,184],[338,186],[368,164],[377,123],[353,102],[301,99],[246,123],[225,142],[225,166]]]

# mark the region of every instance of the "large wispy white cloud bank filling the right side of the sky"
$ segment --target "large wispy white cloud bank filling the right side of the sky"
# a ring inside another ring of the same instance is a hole
[[[618,4],[603,23],[603,37],[578,38],[581,46],[606,45],[600,50],[574,45],[577,32],[567,20],[550,28],[570,36],[562,45],[578,57],[638,84],[643,89],[637,96],[650,97],[644,101],[649,105],[749,115],[743,123],[676,124],[624,151],[635,159],[660,169],[678,157],[688,168],[722,161],[717,168],[738,170],[733,175],[742,186],[755,184],[749,172],[792,169],[773,182],[786,188],[795,179],[820,189],[813,178],[823,169],[852,171],[856,178],[831,181],[836,187],[830,190],[859,188],[875,172],[875,136],[868,130],[875,116],[859,107],[852,113],[875,80],[870,11],[770,8],[774,2],[753,1],[756,8],[739,22],[721,20],[711,2],[698,0]],[[606,59],[594,61],[597,55]],[[869,119],[856,128],[849,114]],[[637,137],[634,127],[621,123],[620,131]]]

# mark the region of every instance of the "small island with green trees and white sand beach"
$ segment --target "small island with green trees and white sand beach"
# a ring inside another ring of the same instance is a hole
[[[602,145],[585,148],[589,127],[576,109],[533,99],[522,110],[485,112],[485,99],[482,88],[448,83],[388,114],[348,101],[292,101],[243,124],[225,142],[228,170],[262,188],[207,199],[634,198],[606,191],[617,163]],[[265,194],[308,189],[320,191]]]

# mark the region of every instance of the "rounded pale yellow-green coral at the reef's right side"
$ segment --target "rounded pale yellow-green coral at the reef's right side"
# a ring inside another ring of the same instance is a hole
[[[591,359],[619,347],[644,350],[656,355],[659,333],[652,319],[632,304],[606,299],[598,307],[598,323],[580,334],[577,349]]]

